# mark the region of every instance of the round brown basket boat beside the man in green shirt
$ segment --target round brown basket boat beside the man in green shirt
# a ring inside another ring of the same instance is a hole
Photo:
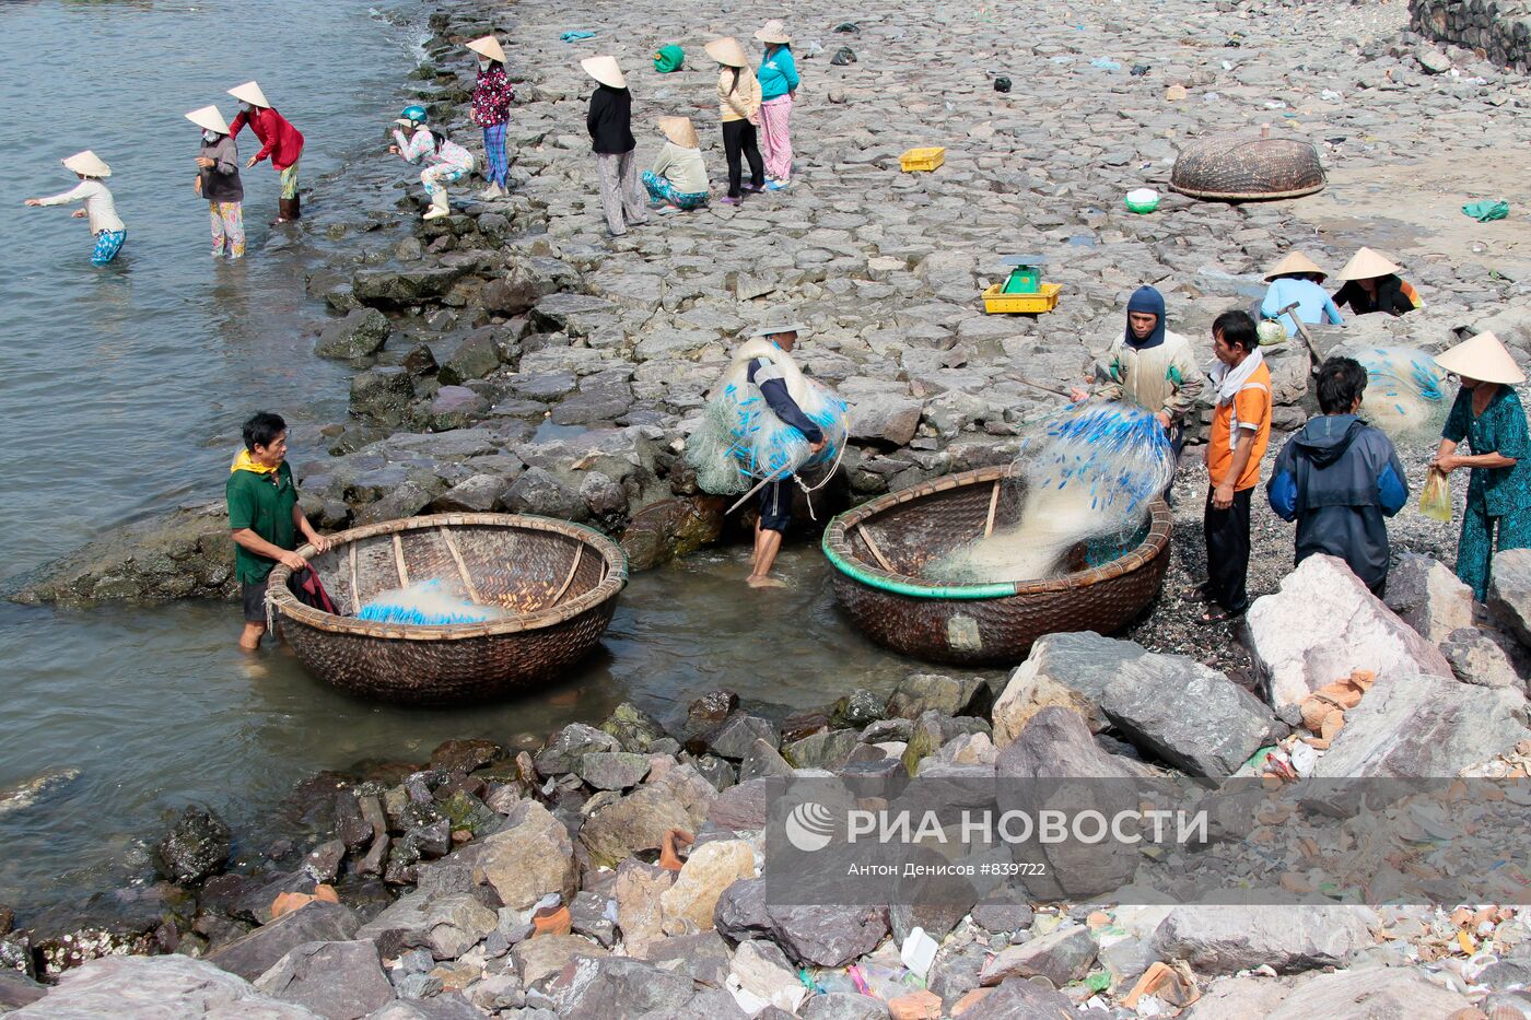
[[[482,700],[551,680],[596,646],[628,584],[620,545],[550,518],[441,513],[352,528],[331,542],[309,564],[340,614],[300,602],[282,564],[266,599],[309,672],[389,701]],[[446,626],[354,619],[378,593],[429,579],[511,614]]]

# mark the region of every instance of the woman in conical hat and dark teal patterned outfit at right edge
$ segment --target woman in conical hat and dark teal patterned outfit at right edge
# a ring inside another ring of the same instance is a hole
[[[1514,386],[1526,381],[1499,337],[1480,332],[1436,357],[1462,380],[1441,447],[1430,463],[1450,475],[1467,467],[1467,510],[1456,547],[1456,576],[1488,599],[1494,551],[1531,548],[1531,438]],[[1467,441],[1471,455],[1458,453]]]

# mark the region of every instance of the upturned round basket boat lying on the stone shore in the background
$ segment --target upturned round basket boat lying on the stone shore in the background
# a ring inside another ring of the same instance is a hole
[[[1219,135],[1180,150],[1170,187],[1211,202],[1263,202],[1321,191],[1324,167],[1318,150],[1295,138]]]

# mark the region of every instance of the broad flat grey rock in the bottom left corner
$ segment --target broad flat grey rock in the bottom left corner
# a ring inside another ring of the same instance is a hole
[[[14,1020],[86,1020],[87,1017],[251,1017],[315,1020],[317,1014],[285,1003],[188,956],[107,956],[63,976],[47,995],[6,1014]]]

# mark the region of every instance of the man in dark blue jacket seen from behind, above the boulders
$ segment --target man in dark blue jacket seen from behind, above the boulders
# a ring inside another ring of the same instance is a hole
[[[1409,502],[1409,479],[1393,443],[1361,421],[1366,369],[1334,357],[1318,369],[1318,409],[1288,440],[1266,484],[1271,508],[1297,521],[1297,562],[1338,556],[1373,593],[1387,585],[1387,522]]]

